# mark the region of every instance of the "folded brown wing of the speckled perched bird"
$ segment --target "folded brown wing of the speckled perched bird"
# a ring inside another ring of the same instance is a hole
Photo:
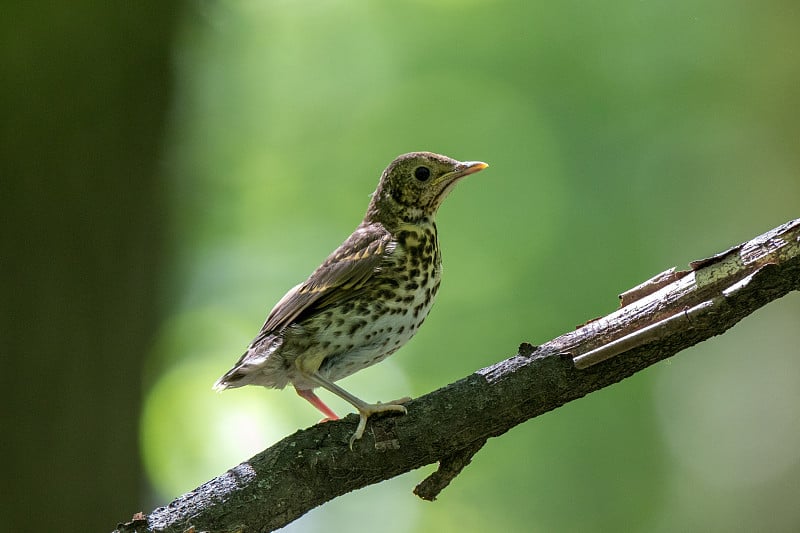
[[[281,331],[300,315],[313,315],[357,295],[394,250],[392,234],[382,225],[359,227],[306,281],[281,298],[254,342]]]

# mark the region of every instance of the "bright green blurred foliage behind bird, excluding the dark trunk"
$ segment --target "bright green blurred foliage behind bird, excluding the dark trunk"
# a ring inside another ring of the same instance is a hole
[[[443,386],[799,216],[798,24],[791,1],[190,3],[167,155],[171,317],[142,419],[156,499],[318,420],[291,391],[210,387],[400,153],[491,167],[440,213],[426,326],[344,382],[370,400]],[[435,504],[410,494],[413,472],[287,531],[791,530],[798,319],[791,295],[493,439]]]

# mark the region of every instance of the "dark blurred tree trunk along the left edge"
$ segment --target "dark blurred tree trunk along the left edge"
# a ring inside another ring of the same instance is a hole
[[[4,531],[100,531],[142,499],[176,14],[154,1],[3,6]]]

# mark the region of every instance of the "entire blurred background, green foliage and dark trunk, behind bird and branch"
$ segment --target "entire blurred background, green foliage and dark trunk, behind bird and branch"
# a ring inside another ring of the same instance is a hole
[[[396,155],[491,167],[439,216],[426,326],[343,384],[418,396],[800,216],[800,5],[4,6],[9,531],[110,530],[319,414],[218,395]],[[796,531],[800,298],[287,531]],[[325,395],[325,393],[322,393]],[[349,407],[329,398],[342,413]]]

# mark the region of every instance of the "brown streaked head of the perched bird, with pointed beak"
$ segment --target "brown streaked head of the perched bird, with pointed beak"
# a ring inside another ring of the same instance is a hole
[[[403,154],[383,171],[366,220],[393,226],[432,219],[461,178],[488,166],[431,152]]]

